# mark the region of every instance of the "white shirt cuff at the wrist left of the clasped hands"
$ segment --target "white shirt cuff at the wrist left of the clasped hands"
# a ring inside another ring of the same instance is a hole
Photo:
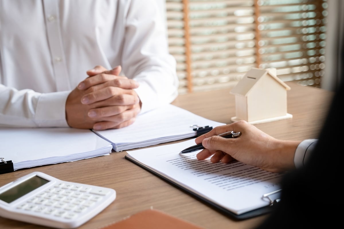
[[[35,122],[39,127],[68,127],[66,101],[70,91],[43,93],[37,103]]]

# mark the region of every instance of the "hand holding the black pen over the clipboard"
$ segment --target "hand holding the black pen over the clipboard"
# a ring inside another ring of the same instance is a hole
[[[234,131],[241,135],[224,138],[219,134]],[[259,130],[246,121],[218,126],[195,139],[203,149],[197,153],[198,160],[211,157],[211,162],[229,163],[234,160],[254,165],[271,172],[294,169],[294,153],[301,141],[279,140]]]

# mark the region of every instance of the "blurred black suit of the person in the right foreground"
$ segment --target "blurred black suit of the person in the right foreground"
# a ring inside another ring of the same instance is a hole
[[[281,202],[257,228],[337,228],[343,222],[343,80],[309,161],[282,179]]]

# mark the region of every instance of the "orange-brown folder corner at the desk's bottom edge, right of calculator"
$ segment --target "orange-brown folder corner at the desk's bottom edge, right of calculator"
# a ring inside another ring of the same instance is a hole
[[[100,229],[203,229],[155,209],[140,211]]]

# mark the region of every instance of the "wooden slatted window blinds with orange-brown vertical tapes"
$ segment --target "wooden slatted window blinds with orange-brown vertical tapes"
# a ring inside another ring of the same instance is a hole
[[[320,87],[326,0],[166,0],[181,94],[232,88],[251,68]]]

